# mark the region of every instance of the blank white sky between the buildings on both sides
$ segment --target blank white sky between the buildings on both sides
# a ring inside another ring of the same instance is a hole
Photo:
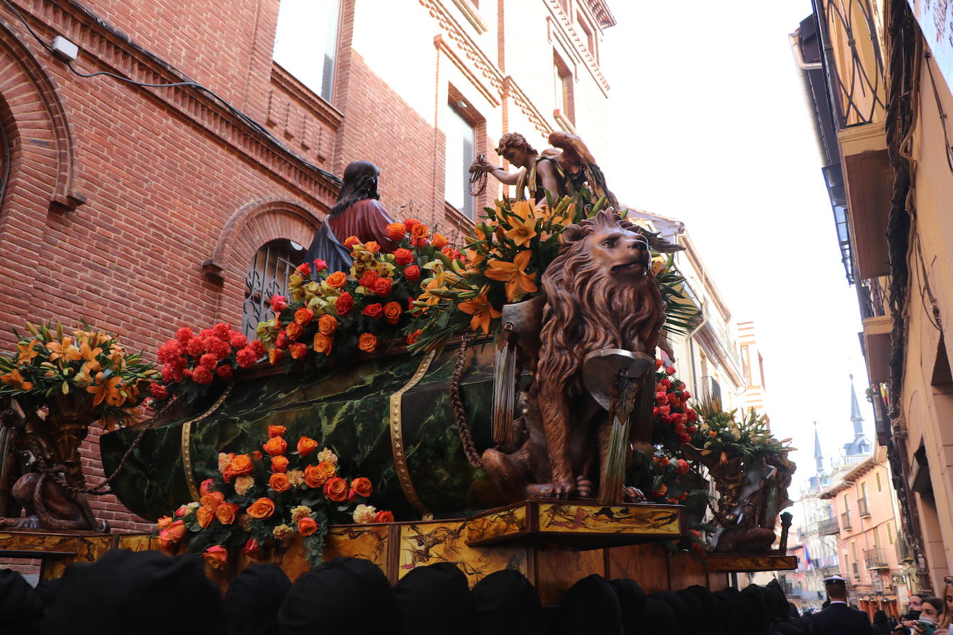
[[[599,165],[619,200],[683,221],[732,319],[754,320],[772,427],[801,449],[796,497],[815,471],[812,422],[827,459],[853,437],[851,372],[874,434],[857,295],[787,37],[810,0],[609,5],[599,57],[618,131]]]

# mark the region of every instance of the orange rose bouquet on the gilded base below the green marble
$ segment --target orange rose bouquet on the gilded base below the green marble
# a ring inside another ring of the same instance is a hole
[[[261,449],[219,453],[218,470],[199,487],[198,502],[180,506],[158,520],[159,543],[172,549],[188,543],[215,568],[225,565],[228,547],[259,559],[268,546],[287,544],[298,534],[313,565],[321,562],[328,524],[391,523],[394,514],[368,505],[371,481],[341,475],[335,452],[318,450],[302,436],[291,449],[287,429],[269,426]],[[291,451],[289,451],[291,449]]]

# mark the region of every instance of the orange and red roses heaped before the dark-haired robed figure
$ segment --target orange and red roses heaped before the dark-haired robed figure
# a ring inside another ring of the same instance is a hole
[[[349,271],[330,271],[323,260],[294,270],[291,298],[273,296],[274,320],[257,328],[273,364],[284,360],[289,367],[310,358],[320,367],[333,356],[416,342],[415,316],[427,308],[426,289],[456,281],[464,259],[445,236],[416,219],[387,231],[398,245],[393,253],[352,236],[344,242],[354,259]]]

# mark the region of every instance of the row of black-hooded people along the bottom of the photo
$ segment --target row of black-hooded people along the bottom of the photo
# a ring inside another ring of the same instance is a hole
[[[391,585],[378,566],[335,558],[294,584],[278,566],[239,573],[224,597],[192,554],[115,549],[74,564],[56,580],[30,586],[0,569],[0,633],[112,635],[171,631],[202,635],[414,633],[415,635],[879,635],[867,615],[845,604],[842,584],[828,584],[831,605],[801,616],[777,581],[710,591],[694,585],[646,594],[635,580],[590,575],[544,606],[516,570],[492,573],[471,589],[452,563],[418,566]],[[953,586],[947,588],[953,592]],[[949,596],[947,596],[949,598]],[[943,625],[949,605],[923,599],[899,629]],[[875,623],[877,620],[875,620]],[[947,619],[948,622],[948,619]],[[941,631],[945,635],[945,630]],[[927,634],[929,635],[929,634]]]

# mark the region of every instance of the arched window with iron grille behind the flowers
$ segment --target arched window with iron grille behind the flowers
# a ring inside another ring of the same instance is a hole
[[[288,295],[288,276],[304,257],[305,249],[293,241],[280,239],[266,243],[254,254],[245,278],[245,305],[242,308],[242,333],[253,340],[259,322],[274,318],[270,300],[273,295]]]

